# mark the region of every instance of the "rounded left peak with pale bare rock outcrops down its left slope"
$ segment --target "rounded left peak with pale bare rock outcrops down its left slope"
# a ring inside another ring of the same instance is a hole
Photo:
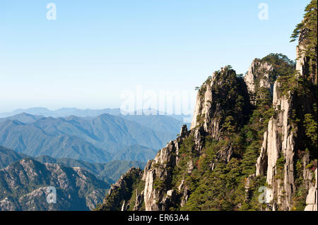
[[[237,99],[241,101],[241,107],[237,110],[244,113],[227,114],[237,104]],[[243,115],[248,115],[249,109],[249,95],[244,80],[237,78],[235,71],[226,67],[213,73],[198,92],[191,130],[188,131],[187,126],[183,126],[179,137],[169,142],[146,165],[143,173],[146,210],[168,210],[177,204],[184,206],[190,195],[184,181],[177,188],[179,194],[172,190],[173,169],[178,166],[182,157],[179,150],[184,140],[192,137],[192,150],[201,154],[207,135],[218,140],[227,131],[223,129],[226,117],[230,116],[232,122],[240,126],[245,121]],[[224,146],[216,154],[218,159],[228,162],[232,157],[232,146]],[[212,165],[211,169],[213,167]],[[191,174],[193,170],[194,162],[189,160],[187,173]]]

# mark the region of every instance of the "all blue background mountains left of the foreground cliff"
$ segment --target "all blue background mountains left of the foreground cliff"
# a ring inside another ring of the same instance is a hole
[[[93,209],[111,183],[131,166],[143,168],[182,125],[117,109],[15,112],[0,118],[0,210]],[[46,202],[51,186],[56,204]]]

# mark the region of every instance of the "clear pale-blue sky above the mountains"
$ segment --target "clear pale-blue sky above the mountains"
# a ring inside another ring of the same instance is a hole
[[[258,18],[262,2],[269,20]],[[271,52],[295,59],[289,37],[308,2],[0,1],[0,112],[119,107],[136,85],[194,90],[228,64],[245,73]]]

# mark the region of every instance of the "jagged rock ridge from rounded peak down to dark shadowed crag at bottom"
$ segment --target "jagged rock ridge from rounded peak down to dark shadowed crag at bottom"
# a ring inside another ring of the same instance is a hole
[[[233,107],[235,111],[230,110]],[[177,176],[175,168],[184,163],[184,157],[187,155],[184,152],[186,148],[184,145],[189,144],[189,150],[197,156],[204,154],[202,151],[206,138],[223,139],[230,130],[247,122],[251,109],[247,86],[242,78],[237,77],[235,71],[230,67],[225,67],[213,73],[199,91],[192,129],[187,130],[187,126],[182,126],[179,137],[170,141],[166,147],[158,152],[155,159],[146,165],[143,176],[140,177],[141,181],[144,182],[144,209],[170,210],[175,209],[177,205],[181,207],[186,205],[191,195],[187,181],[185,179],[182,179],[181,182],[177,181],[177,183],[173,181]],[[216,152],[216,160],[229,162],[233,154],[232,145],[224,145]],[[192,174],[197,166],[195,161],[194,158],[187,161],[186,174]],[[213,170],[213,168],[214,164],[211,162],[211,169]],[[125,176],[129,176],[129,173]],[[140,178],[136,178],[131,186],[139,183],[138,179]],[[117,199],[117,196],[122,195],[121,193],[127,190],[126,186],[119,185],[124,182],[123,179],[117,182],[119,182],[118,185],[115,184],[112,188],[116,188],[119,194],[110,191],[100,209],[119,209],[119,207],[123,210],[138,209],[139,207],[136,206],[131,208],[131,205],[126,207],[127,202],[131,202],[134,196],[130,196],[129,199],[128,195],[125,195],[125,197]],[[108,207],[109,202],[114,202],[114,205]],[[139,202],[138,198],[136,202]]]

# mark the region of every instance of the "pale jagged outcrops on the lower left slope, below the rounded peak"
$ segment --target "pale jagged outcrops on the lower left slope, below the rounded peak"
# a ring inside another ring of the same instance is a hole
[[[176,204],[184,206],[189,198],[189,190],[184,186],[184,181],[178,187],[183,190],[182,195],[177,195],[172,190],[172,173],[175,166],[178,165],[180,157],[180,146],[183,141],[190,136],[194,137],[194,150],[199,152],[204,142],[204,129],[202,127],[187,130],[187,126],[182,126],[179,137],[170,141],[166,147],[161,149],[155,156],[155,159],[148,162],[143,172],[143,181],[145,188],[143,190],[143,200],[146,211],[166,211]],[[187,164],[188,173],[193,170],[193,162]]]

